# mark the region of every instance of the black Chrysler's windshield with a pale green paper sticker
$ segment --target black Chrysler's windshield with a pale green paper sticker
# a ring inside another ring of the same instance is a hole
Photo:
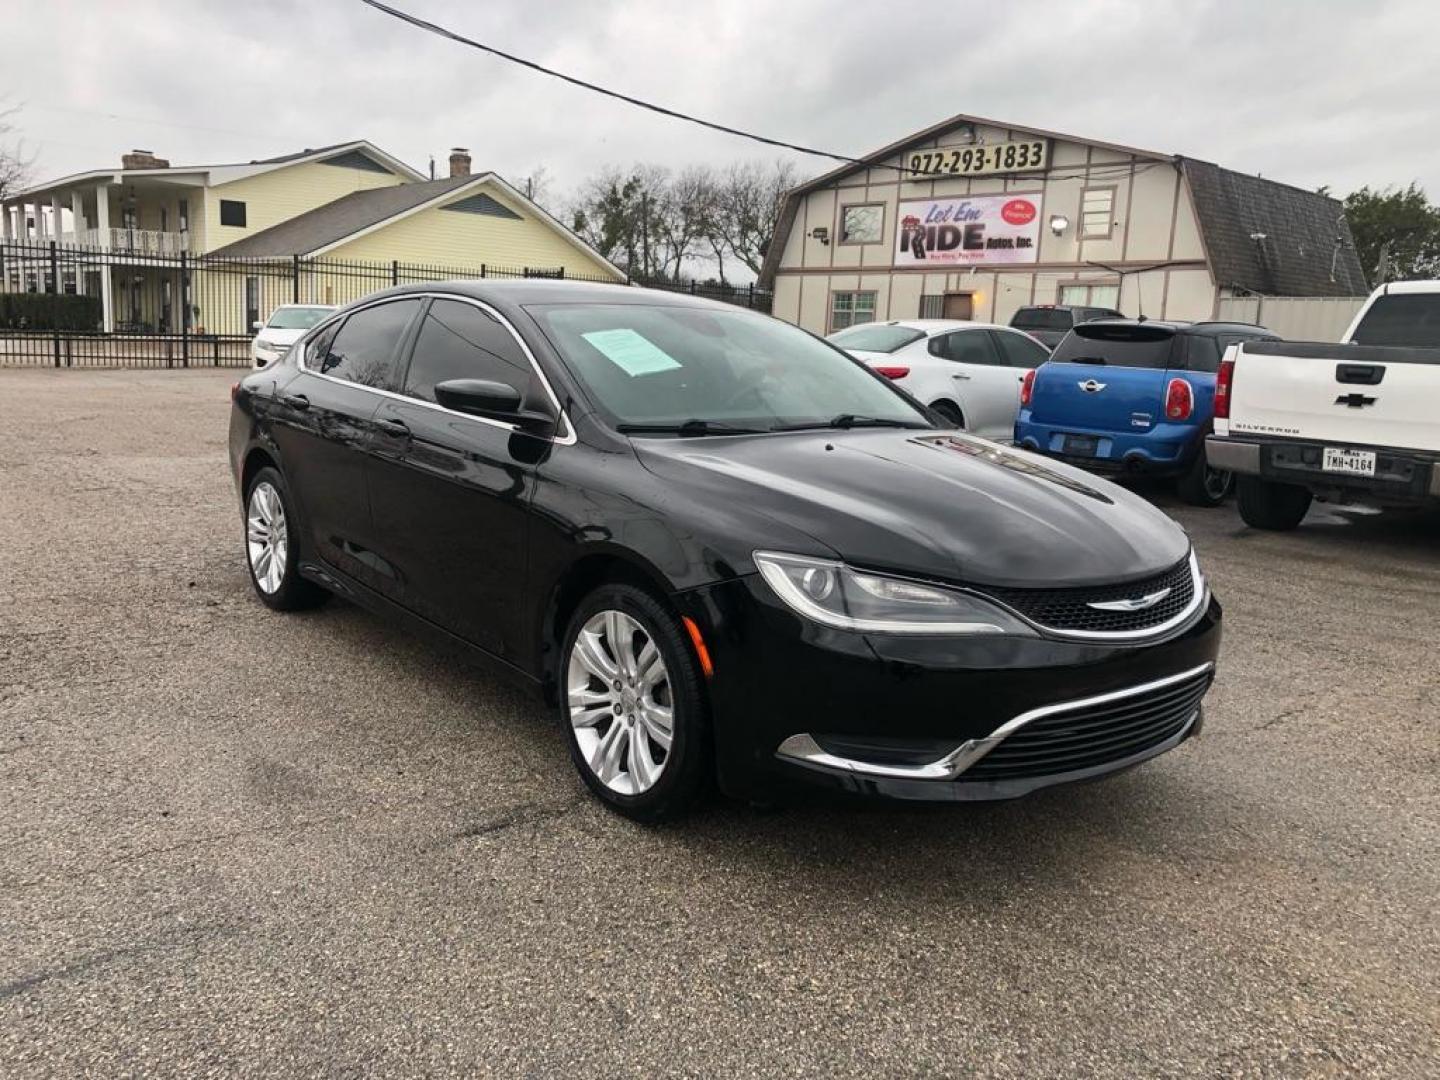
[[[680,435],[930,420],[883,379],[804,330],[736,308],[541,304],[528,308],[613,426]]]

